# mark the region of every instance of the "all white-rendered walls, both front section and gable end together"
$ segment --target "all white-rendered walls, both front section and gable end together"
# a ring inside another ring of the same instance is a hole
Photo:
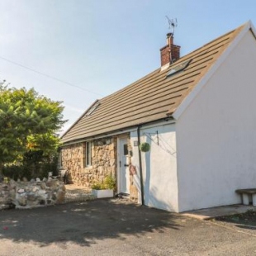
[[[236,204],[241,203],[236,189],[256,187],[252,31],[246,27],[220,56],[174,112],[175,124],[140,128],[141,143],[151,146],[148,153],[141,153],[146,206],[181,212]],[[130,132],[130,140],[132,164],[138,171],[134,182],[140,193],[136,130]]]

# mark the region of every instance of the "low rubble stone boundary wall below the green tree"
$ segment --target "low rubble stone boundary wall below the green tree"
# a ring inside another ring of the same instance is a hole
[[[65,186],[56,179],[31,182],[0,183],[0,210],[8,208],[33,208],[49,206],[64,202]]]

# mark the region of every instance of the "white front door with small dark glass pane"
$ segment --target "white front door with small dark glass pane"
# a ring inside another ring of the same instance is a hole
[[[130,194],[127,139],[121,138],[119,140],[119,145],[119,192]]]

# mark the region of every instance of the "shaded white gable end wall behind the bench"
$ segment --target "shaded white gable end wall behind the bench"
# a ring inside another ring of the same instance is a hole
[[[252,32],[247,29],[223,56],[222,64],[176,123],[178,211],[240,203],[235,190],[256,187],[256,40]]]

